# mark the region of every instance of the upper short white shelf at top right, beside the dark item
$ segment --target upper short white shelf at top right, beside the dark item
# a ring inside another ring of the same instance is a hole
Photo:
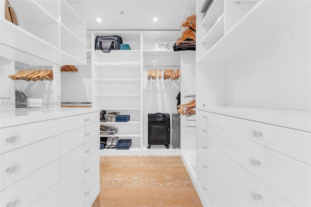
[[[211,26],[216,23],[220,16],[224,13],[225,2],[224,0],[214,0],[212,4],[209,6],[208,11],[205,17],[202,20],[201,25]]]

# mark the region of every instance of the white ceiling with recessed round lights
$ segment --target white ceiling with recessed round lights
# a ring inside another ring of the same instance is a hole
[[[86,29],[180,30],[186,16],[194,14],[187,14],[190,4],[191,0],[86,0]],[[103,22],[96,22],[97,17]]]

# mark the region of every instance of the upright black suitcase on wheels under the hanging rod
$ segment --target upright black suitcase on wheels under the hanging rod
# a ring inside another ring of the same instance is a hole
[[[171,141],[170,114],[148,114],[148,149],[152,144],[164,144],[167,149]]]

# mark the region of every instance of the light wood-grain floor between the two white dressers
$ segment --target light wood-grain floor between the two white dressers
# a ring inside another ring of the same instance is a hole
[[[92,207],[202,207],[180,156],[101,156]]]

